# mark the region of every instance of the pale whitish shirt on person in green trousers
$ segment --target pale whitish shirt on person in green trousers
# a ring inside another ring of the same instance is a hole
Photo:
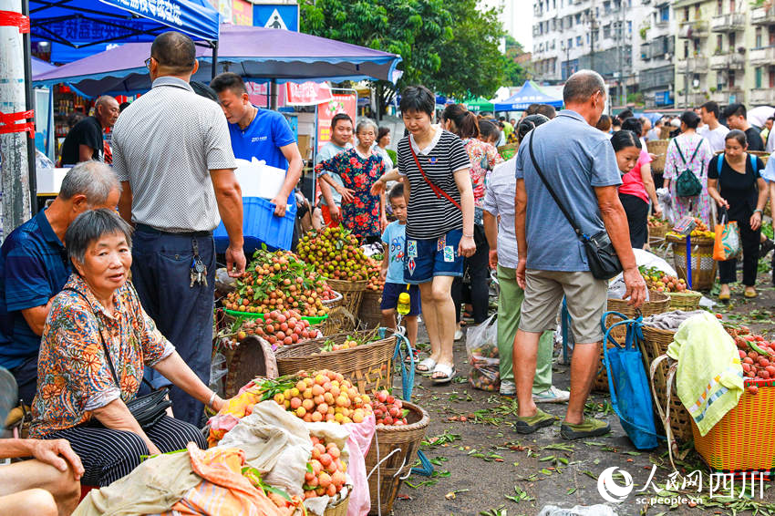
[[[517,157],[495,165],[490,182],[484,193],[484,210],[493,217],[501,216],[498,222],[498,264],[507,269],[516,269],[517,235],[514,232],[514,194],[517,180],[514,177],[514,163]]]

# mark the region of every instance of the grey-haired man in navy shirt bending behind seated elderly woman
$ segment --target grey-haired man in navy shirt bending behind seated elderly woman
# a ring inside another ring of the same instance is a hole
[[[35,397],[37,352],[51,299],[67,283],[65,232],[87,210],[119,204],[121,185],[108,165],[79,163],[67,172],[57,198],[17,227],[0,247],[0,366],[11,371],[19,397]]]

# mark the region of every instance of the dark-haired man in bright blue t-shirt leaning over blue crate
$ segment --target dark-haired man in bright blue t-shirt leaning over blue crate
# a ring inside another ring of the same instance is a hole
[[[212,79],[210,87],[218,94],[223,114],[229,121],[234,157],[241,160],[263,160],[270,167],[287,170],[279,193],[271,201],[274,214],[285,215],[288,197],[302,177],[302,160],[294,133],[285,117],[277,111],[256,108],[251,104],[242,77],[232,72]]]

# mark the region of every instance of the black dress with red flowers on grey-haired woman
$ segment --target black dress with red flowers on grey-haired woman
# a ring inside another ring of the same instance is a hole
[[[353,191],[353,201],[342,200],[342,223],[358,238],[381,236],[382,209],[380,196],[369,193],[371,185],[385,173],[382,157],[374,150],[364,156],[354,147],[336,154],[315,166],[317,177],[338,174],[345,188]]]

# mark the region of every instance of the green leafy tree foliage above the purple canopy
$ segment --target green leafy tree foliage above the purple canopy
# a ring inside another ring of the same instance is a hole
[[[398,54],[398,88],[491,96],[506,79],[498,12],[477,0],[303,0],[302,31]],[[392,88],[387,82],[383,87]]]

